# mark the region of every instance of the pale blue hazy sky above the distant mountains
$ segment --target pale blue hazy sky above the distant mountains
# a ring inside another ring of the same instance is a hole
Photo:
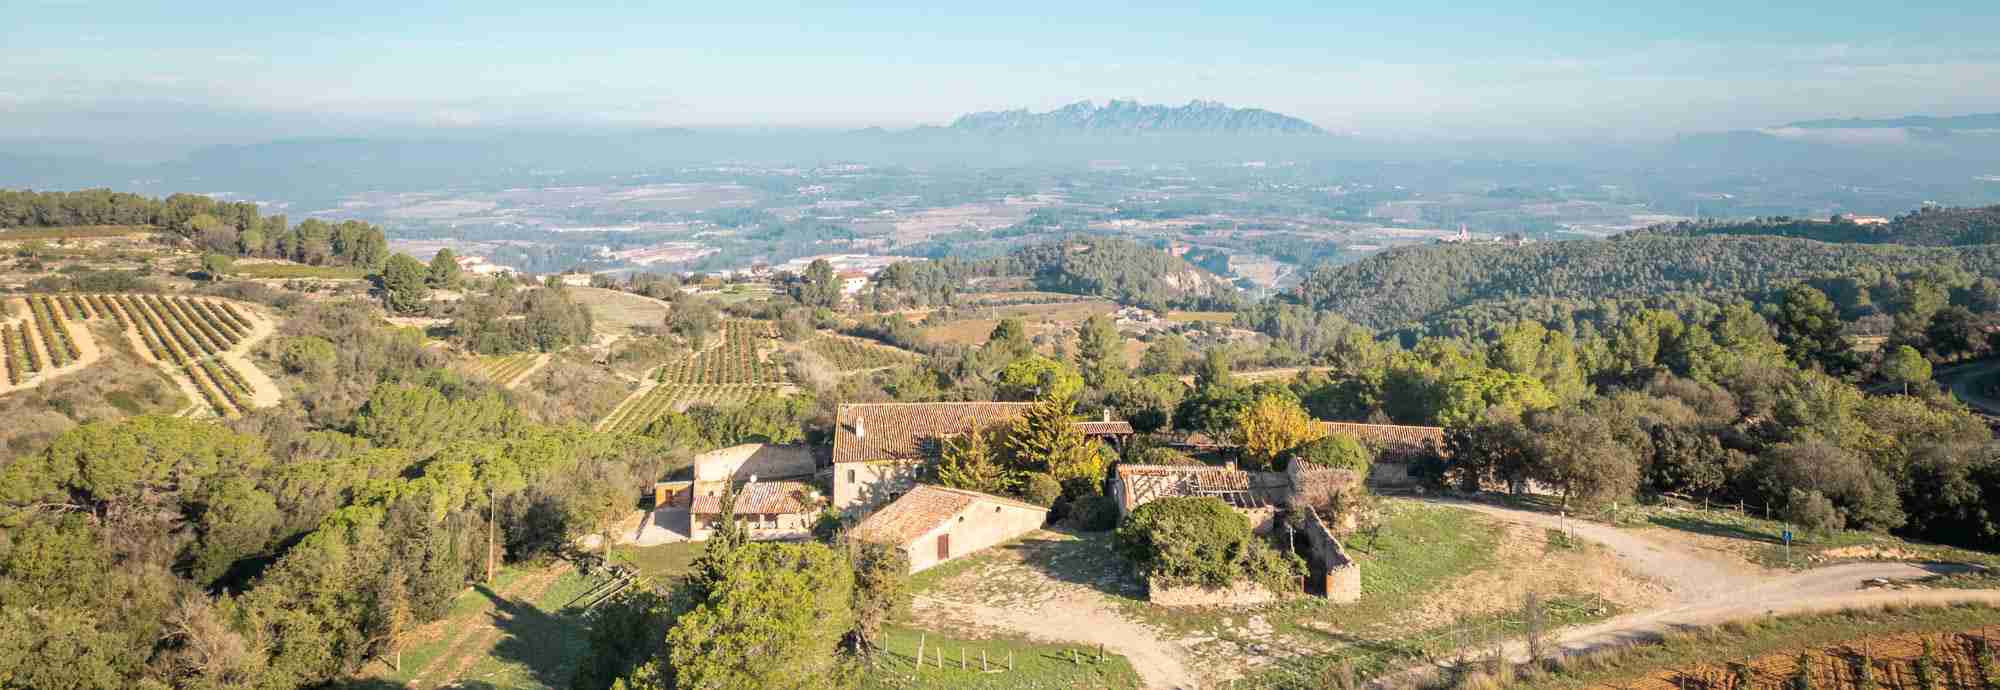
[[[1386,136],[1656,136],[2000,110],[2000,2],[1606,4],[12,0],[0,128],[894,128],[1208,98]]]

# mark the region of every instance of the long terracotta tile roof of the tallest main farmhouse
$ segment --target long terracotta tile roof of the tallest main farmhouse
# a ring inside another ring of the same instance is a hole
[[[1034,402],[866,402],[844,404],[834,424],[834,462],[926,460],[938,438],[1012,422]],[[856,424],[866,434],[856,432]],[[1090,436],[1132,434],[1128,422],[1078,422]]]

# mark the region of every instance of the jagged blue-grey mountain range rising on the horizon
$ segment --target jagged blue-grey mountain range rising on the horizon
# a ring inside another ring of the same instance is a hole
[[[952,120],[954,132],[976,134],[1326,134],[1312,122],[1262,108],[1230,108],[1212,100],[1186,106],[1146,106],[1088,100],[1050,112],[996,110]]]

